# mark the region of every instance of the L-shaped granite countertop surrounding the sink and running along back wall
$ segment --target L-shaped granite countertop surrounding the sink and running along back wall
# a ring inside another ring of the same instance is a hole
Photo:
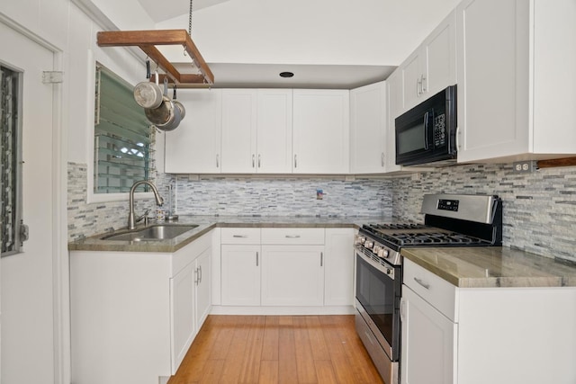
[[[102,240],[105,235],[120,234],[122,230],[86,237],[68,243],[69,251],[106,252],[166,252],[173,253],[208,233],[213,228],[359,228],[367,222],[390,221],[390,217],[243,217],[243,216],[180,216],[172,224],[196,224],[198,227],[169,240],[158,241],[119,241]],[[150,222],[150,226],[157,224]],[[139,228],[144,228],[139,226]],[[126,230],[123,230],[124,232]]]

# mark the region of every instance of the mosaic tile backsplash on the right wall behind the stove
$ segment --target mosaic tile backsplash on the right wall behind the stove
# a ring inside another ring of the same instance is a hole
[[[398,178],[392,216],[421,222],[422,195],[445,192],[499,195],[504,246],[576,262],[576,167],[515,174],[512,165],[457,165]]]

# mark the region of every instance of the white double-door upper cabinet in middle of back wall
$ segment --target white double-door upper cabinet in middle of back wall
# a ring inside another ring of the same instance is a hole
[[[292,172],[292,90],[225,89],[222,173]]]

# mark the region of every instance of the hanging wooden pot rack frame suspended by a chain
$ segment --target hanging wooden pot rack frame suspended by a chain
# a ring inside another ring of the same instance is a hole
[[[96,34],[96,42],[99,47],[139,47],[177,85],[214,84],[210,67],[185,30],[100,31]],[[156,48],[157,45],[181,45],[202,75],[181,74]]]

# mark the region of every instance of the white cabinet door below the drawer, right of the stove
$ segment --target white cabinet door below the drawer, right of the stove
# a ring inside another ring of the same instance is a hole
[[[401,384],[455,382],[457,325],[402,286]]]

